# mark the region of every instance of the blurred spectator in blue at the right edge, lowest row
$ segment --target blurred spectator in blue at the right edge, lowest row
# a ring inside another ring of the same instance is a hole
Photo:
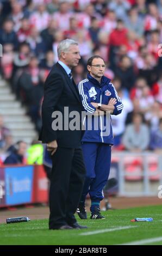
[[[151,133],[151,141],[149,147],[156,153],[162,153],[162,118],[159,121],[159,127]]]

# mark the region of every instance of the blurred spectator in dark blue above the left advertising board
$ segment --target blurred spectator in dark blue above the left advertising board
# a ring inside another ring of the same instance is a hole
[[[15,144],[15,150],[4,161],[4,164],[23,164],[26,155],[27,144],[23,141],[18,141]]]

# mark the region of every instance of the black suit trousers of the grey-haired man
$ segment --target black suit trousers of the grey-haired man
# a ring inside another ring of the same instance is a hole
[[[85,166],[81,147],[58,147],[52,156],[49,228],[76,223],[74,213],[83,191],[84,179]]]

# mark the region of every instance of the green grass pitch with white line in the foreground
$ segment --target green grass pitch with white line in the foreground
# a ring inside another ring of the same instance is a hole
[[[161,210],[160,205],[109,210],[102,212],[105,220],[90,220],[90,214],[88,220],[77,217],[79,224],[89,227],[84,230],[48,230],[48,220],[2,223],[0,245],[119,245],[147,239],[147,245],[162,245]],[[130,222],[135,217],[153,217],[153,222]],[[160,241],[152,241],[157,238]]]

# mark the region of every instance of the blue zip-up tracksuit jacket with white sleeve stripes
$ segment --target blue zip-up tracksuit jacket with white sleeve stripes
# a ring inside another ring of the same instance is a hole
[[[92,114],[96,111],[96,108],[91,105],[91,102],[108,105],[109,100],[113,97],[117,100],[117,103],[114,105],[115,109],[113,114],[118,115],[122,112],[123,103],[121,98],[117,96],[116,89],[110,82],[110,79],[103,76],[101,83],[99,83],[94,77],[88,74],[88,78],[78,84],[78,89],[84,110],[89,113],[83,121],[85,132],[82,142],[101,142],[113,145],[114,137],[111,116],[102,115],[100,117],[94,117]],[[90,118],[92,127],[88,129],[88,127],[90,127],[88,126],[88,120]],[[95,128],[97,122],[99,129]]]

